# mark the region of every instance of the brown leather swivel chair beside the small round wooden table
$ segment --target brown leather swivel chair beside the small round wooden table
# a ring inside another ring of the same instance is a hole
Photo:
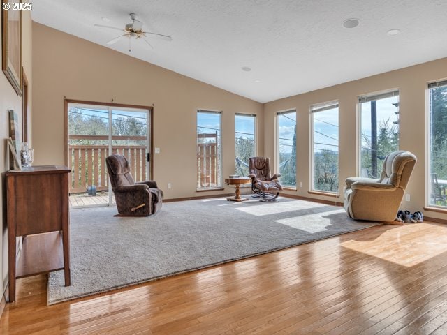
[[[282,190],[278,178],[280,173],[270,175],[270,158],[251,157],[249,159],[249,176],[251,178],[251,191],[253,191],[261,201],[277,201],[279,191]],[[276,194],[272,194],[276,193]]]

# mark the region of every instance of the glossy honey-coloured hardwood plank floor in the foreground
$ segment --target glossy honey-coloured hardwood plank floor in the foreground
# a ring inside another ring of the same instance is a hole
[[[18,281],[0,334],[447,334],[447,226],[383,225],[46,306]]]

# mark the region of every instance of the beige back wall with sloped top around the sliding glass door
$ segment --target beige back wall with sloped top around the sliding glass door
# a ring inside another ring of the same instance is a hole
[[[154,179],[165,198],[196,193],[196,111],[221,110],[223,177],[235,169],[236,112],[256,114],[263,137],[263,105],[49,27],[33,24],[33,145],[38,164],[64,163],[64,96],[82,101],[154,104]],[[258,154],[263,154],[258,141]],[[167,184],[172,189],[167,189]],[[230,193],[233,188],[226,186]]]

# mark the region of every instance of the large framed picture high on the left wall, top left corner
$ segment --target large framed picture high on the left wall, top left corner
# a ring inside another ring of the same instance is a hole
[[[5,6],[5,3],[8,5]],[[22,10],[13,10],[10,0],[2,0],[1,12],[3,15],[1,68],[17,94],[22,96]]]

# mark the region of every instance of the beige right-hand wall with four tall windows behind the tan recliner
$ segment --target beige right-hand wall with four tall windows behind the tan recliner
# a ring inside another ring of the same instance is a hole
[[[295,108],[297,110],[297,181],[302,188],[288,193],[309,198],[333,201],[330,198],[312,195],[309,190],[309,106],[326,101],[339,101],[339,193],[342,194],[344,179],[356,175],[356,155],[358,134],[356,133],[357,97],[389,89],[400,91],[400,149],[413,152],[418,163],[406,190],[411,195],[410,202],[402,202],[402,209],[421,211],[425,205],[425,135],[427,82],[447,77],[447,58],[400,70],[374,75],[353,82],[319,89],[306,94],[291,96],[264,105],[264,154],[276,157],[275,115],[277,111]],[[425,212],[425,216],[447,219],[446,214]]]

